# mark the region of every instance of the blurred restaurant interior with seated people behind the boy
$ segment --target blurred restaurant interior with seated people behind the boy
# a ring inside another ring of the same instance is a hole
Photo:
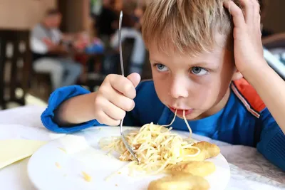
[[[123,10],[125,73],[151,78],[140,33],[147,0],[0,0],[0,107],[46,105],[64,85],[94,91],[120,74],[118,16]],[[261,1],[264,48],[285,54],[285,1]]]

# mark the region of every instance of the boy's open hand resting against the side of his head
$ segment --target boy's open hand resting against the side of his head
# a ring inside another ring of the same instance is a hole
[[[224,6],[234,21],[234,60],[239,72],[245,77],[252,70],[266,65],[261,43],[259,3],[257,0],[239,0],[242,9],[229,0]]]

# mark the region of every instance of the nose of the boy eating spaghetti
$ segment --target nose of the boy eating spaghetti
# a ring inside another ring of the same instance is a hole
[[[188,97],[187,81],[183,78],[175,78],[172,81],[170,95],[175,99]]]

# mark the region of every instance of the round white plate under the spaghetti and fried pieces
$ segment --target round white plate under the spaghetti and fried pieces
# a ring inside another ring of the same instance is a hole
[[[124,129],[130,130],[134,127]],[[185,137],[189,135],[186,132],[177,133]],[[163,175],[129,176],[128,167],[123,167],[126,162],[106,155],[98,146],[102,137],[118,135],[118,127],[95,127],[49,142],[38,149],[29,160],[29,179],[41,190],[147,189],[150,181]],[[60,148],[65,149],[67,153]],[[206,177],[211,189],[225,189],[230,176],[227,160],[219,154],[209,161],[214,162],[217,168],[213,174]],[[61,168],[58,168],[56,163]],[[90,182],[83,179],[82,171],[92,177]],[[112,177],[105,181],[110,174],[113,174]]]

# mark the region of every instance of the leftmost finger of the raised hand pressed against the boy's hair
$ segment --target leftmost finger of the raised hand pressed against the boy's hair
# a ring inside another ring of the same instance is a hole
[[[233,1],[225,1],[224,7],[229,10],[229,13],[232,15],[232,19],[234,21],[234,26],[237,28],[243,28],[245,25],[244,14],[242,13],[242,9],[239,8]]]

